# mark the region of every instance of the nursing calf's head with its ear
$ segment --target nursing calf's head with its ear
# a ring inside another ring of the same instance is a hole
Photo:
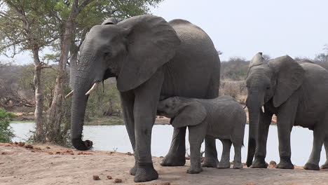
[[[157,107],[157,114],[173,118],[171,124],[175,128],[198,125],[207,116],[202,104],[182,97],[169,97],[160,101]]]

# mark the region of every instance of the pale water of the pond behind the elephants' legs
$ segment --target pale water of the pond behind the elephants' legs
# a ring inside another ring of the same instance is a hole
[[[14,142],[24,141],[31,134],[29,130],[34,130],[34,123],[11,123],[16,137]],[[151,138],[151,154],[153,156],[165,156],[170,149],[173,128],[171,125],[154,125]],[[188,132],[188,131],[187,131]],[[188,133],[187,133],[188,134]],[[128,132],[124,125],[86,125],[83,127],[83,139],[93,141],[95,150],[132,152]],[[244,144],[242,148],[242,161],[247,158],[248,125],[245,128]],[[312,149],[313,132],[300,127],[292,130],[292,163],[295,165],[305,165]],[[189,148],[188,137],[186,137],[186,147]],[[202,145],[202,151],[204,144]],[[217,139],[217,152],[221,158],[222,145]],[[233,147],[231,147],[231,160],[233,160]],[[322,148],[320,165],[325,162],[324,148]],[[279,162],[278,152],[278,132],[275,125],[271,125],[268,134],[266,161],[275,160]]]

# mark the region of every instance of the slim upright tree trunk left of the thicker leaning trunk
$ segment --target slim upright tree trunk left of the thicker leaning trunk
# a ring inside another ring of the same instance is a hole
[[[39,48],[34,47],[32,50],[34,59],[34,88],[35,88],[35,123],[36,132],[34,139],[36,142],[44,142],[44,130],[42,123],[42,112],[43,112],[43,93],[41,90],[41,62],[39,60]]]

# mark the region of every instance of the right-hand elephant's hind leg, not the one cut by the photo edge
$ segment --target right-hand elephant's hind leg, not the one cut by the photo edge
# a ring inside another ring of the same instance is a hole
[[[308,163],[304,165],[305,170],[320,170],[319,161],[320,161],[320,153],[322,149],[322,144],[324,143],[325,137],[324,124],[317,125],[313,129],[313,146],[310,158],[308,159]]]

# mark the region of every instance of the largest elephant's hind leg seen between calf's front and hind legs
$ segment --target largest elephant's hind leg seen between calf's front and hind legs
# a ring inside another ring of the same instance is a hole
[[[217,146],[215,145],[215,138],[205,136],[205,159],[203,167],[217,167],[219,160],[217,160]]]

